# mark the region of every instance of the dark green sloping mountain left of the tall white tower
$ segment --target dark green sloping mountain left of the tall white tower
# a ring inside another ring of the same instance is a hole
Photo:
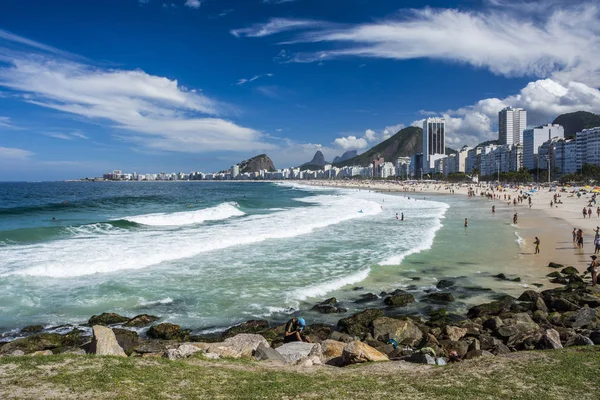
[[[409,126],[400,130],[394,136],[384,140],[371,149],[348,160],[334,163],[336,167],[346,167],[350,165],[360,165],[366,167],[371,163],[374,157],[380,156],[385,161],[394,162],[398,157],[411,157],[416,153],[423,151],[423,129],[417,126]],[[449,147],[446,147],[446,154],[456,153]]]

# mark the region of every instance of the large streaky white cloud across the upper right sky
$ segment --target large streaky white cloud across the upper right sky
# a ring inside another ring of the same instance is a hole
[[[591,1],[525,3],[532,7],[499,7],[494,2],[481,11],[401,10],[387,19],[347,26],[278,18],[233,32],[252,37],[304,30],[286,44],[313,42],[324,47],[298,53],[293,62],[348,56],[432,58],[508,77],[551,77],[600,86],[600,6]]]

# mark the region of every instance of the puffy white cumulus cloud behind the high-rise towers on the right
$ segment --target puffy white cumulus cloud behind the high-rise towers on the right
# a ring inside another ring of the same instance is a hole
[[[540,79],[503,99],[487,98],[457,110],[439,112],[437,115],[446,119],[448,145],[473,146],[497,139],[498,112],[507,106],[526,109],[528,125],[536,126],[550,123],[564,113],[600,113],[600,90],[578,82],[561,84],[552,79]],[[414,121],[413,125],[422,127],[423,120]]]

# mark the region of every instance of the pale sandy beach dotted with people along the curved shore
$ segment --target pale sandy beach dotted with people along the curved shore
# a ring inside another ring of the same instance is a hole
[[[377,190],[381,192],[401,192],[415,198],[434,199],[437,195],[452,195],[464,198],[464,201],[481,201],[489,203],[490,217],[492,206],[495,206],[495,217],[506,218],[507,223],[512,224],[514,213],[518,214],[518,223],[514,226],[519,236],[523,239],[520,245],[520,254],[524,257],[525,265],[515,266],[521,268],[540,268],[540,272],[547,273],[549,262],[557,262],[572,265],[583,272],[590,262],[590,255],[594,254],[594,229],[600,225],[600,218],[596,213],[596,207],[592,202],[591,218],[583,218],[582,209],[592,201],[592,193],[577,197],[576,192],[571,193],[573,188],[566,188],[567,192],[561,192],[561,187],[555,191],[546,188],[523,186],[520,188],[501,188],[483,184],[452,184],[452,183],[415,183],[402,184],[396,182],[381,181],[299,181],[301,184],[314,186],[329,186],[339,188],[357,188],[362,190]],[[533,192],[531,191],[533,189]],[[475,191],[475,195],[469,197],[469,191]],[[491,199],[482,196],[482,193],[495,194]],[[521,193],[527,193],[532,198],[531,207],[528,200],[521,203],[513,203]],[[558,204],[554,204],[554,195],[557,195]],[[506,195],[506,200],[505,199]],[[433,196],[433,197],[429,197]],[[509,200],[510,196],[510,200]],[[550,202],[553,202],[550,207]],[[599,203],[600,204],[600,203]],[[468,218],[468,215],[465,216]],[[448,221],[447,223],[463,224],[464,220]],[[584,233],[584,248],[577,249],[572,240],[573,228],[582,229]],[[540,254],[534,254],[534,241],[538,237]],[[507,261],[513,260],[514,254],[507,249],[499,249],[507,254]],[[515,271],[515,272],[518,272]]]

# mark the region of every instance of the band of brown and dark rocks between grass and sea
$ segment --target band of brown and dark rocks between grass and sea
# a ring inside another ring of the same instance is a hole
[[[403,291],[374,296],[382,308],[366,309],[342,318],[337,325],[313,324],[306,328],[314,343],[283,344],[284,325],[252,320],[234,326],[220,337],[192,335],[178,325],[159,323],[154,316],[122,317],[102,314],[88,321],[90,339],[78,329],[59,335],[27,327],[29,336],[5,343],[2,356],[55,353],[92,353],[131,357],[191,356],[208,359],[245,358],[300,366],[346,366],[363,362],[398,361],[445,364],[457,359],[494,357],[515,351],[558,349],[600,344],[600,288],[573,267],[556,268],[549,278],[566,284],[549,290],[526,290],[518,298],[501,296],[471,307],[466,315],[444,308],[431,309],[429,317],[393,315],[410,307],[415,298]],[[437,307],[453,301],[453,282],[440,281],[435,296],[421,302]],[[345,310],[335,299],[315,307],[316,311]],[[148,326],[143,337],[128,329]]]

